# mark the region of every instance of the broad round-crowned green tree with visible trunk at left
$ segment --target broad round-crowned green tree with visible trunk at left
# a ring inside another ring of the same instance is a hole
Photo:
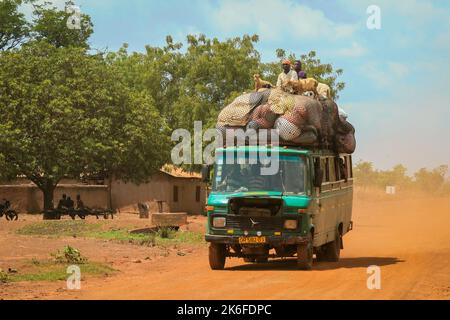
[[[33,181],[53,208],[64,177],[146,181],[167,160],[153,99],[126,86],[102,55],[32,41],[0,58],[0,175]]]

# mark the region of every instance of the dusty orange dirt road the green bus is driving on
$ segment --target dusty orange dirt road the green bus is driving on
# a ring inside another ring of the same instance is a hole
[[[316,263],[313,271],[296,270],[293,260],[246,264],[239,259],[227,260],[224,271],[212,271],[202,246],[45,298],[450,299],[449,198],[356,200],[353,218],[355,230],[344,238],[341,261]],[[381,268],[380,290],[367,288],[371,265]]]

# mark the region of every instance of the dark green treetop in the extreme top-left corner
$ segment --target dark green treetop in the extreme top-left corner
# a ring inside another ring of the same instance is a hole
[[[30,25],[19,6],[27,1],[0,1],[0,50],[10,50],[21,44],[29,35]]]

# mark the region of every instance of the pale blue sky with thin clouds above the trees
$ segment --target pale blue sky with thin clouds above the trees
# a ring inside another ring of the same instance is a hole
[[[54,0],[61,6],[64,1]],[[91,16],[91,46],[131,51],[166,35],[226,39],[258,34],[263,61],[283,48],[315,50],[344,70],[338,105],[358,142],[354,159],[413,173],[450,165],[450,1],[426,0],[78,0]],[[369,29],[376,5],[380,29]],[[29,13],[29,8],[23,8]]]

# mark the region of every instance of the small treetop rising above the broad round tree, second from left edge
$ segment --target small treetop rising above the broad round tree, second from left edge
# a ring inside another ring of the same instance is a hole
[[[73,1],[67,1],[65,10],[49,3],[35,4],[32,33],[36,40],[46,40],[55,47],[89,48],[88,39],[93,33],[89,15],[78,12]],[[75,24],[72,24],[75,22]]]

